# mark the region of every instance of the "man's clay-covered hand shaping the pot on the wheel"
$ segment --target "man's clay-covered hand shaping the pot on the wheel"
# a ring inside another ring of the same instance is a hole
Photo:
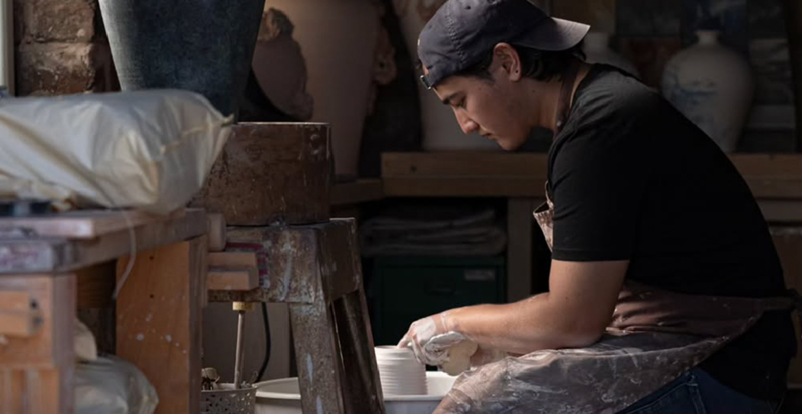
[[[411,347],[420,363],[441,366],[448,361],[448,348],[468,339],[452,330],[448,311],[419,319],[399,342],[399,347]]]

